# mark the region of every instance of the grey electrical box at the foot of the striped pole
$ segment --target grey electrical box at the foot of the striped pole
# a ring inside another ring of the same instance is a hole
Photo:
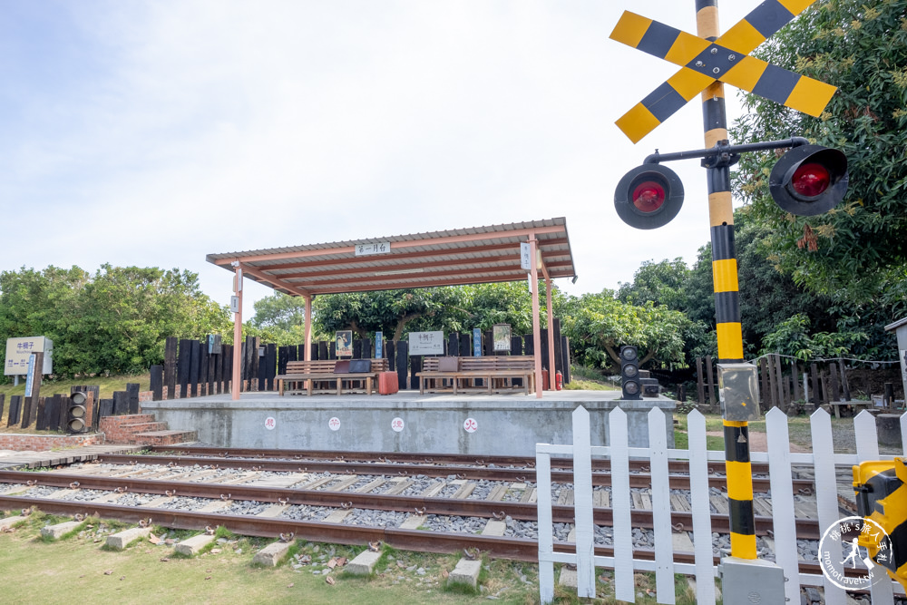
[[[726,557],[718,565],[724,605],[783,605],[785,571],[771,561]]]

